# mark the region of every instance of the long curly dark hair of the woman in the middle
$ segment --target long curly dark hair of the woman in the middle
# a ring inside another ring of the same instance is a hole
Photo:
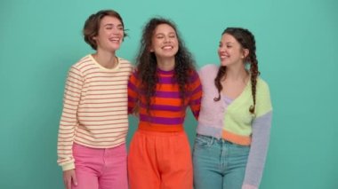
[[[195,71],[195,60],[191,53],[185,47],[176,25],[171,20],[164,18],[150,19],[142,31],[141,47],[136,58],[137,77],[141,82],[141,91],[146,98],[146,107],[149,112],[151,104],[150,98],[155,94],[156,84],[158,82],[157,76],[157,59],[155,52],[151,52],[152,36],[158,25],[169,25],[176,33],[179,50],[175,54],[175,66],[173,68],[173,81],[176,81],[180,89],[180,97],[182,99],[182,106],[184,105],[187,91],[189,90],[189,77]]]

